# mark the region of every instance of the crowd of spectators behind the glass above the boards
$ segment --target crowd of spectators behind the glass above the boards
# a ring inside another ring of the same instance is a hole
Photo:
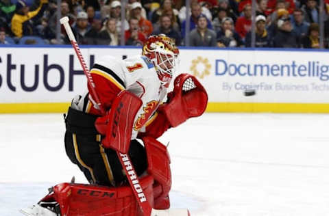
[[[320,2],[324,1],[324,8]],[[117,0],[0,0],[0,44],[69,44],[57,37],[57,10],[69,16],[78,44],[141,46],[164,33],[176,45],[252,46],[251,0],[191,0],[186,34],[184,0],[127,0],[121,20]],[[256,0],[256,47],[320,48],[319,12],[324,11],[324,47],[329,48],[329,0]],[[122,31],[121,29],[124,28]],[[123,32],[123,37],[121,37]]]

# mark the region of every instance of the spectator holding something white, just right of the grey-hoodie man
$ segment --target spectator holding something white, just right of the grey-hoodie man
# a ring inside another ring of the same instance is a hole
[[[239,47],[243,46],[243,41],[239,33],[234,31],[233,19],[223,18],[221,31],[217,32],[217,46],[219,47]]]

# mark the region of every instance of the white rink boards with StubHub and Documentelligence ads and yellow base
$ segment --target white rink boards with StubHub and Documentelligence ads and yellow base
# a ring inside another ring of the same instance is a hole
[[[90,67],[103,55],[130,57],[141,48],[83,46]],[[329,53],[284,49],[180,49],[180,72],[208,92],[207,111],[329,112]],[[172,88],[172,87],[171,87]],[[254,96],[244,96],[247,89]],[[66,111],[86,78],[71,46],[1,46],[0,113]]]

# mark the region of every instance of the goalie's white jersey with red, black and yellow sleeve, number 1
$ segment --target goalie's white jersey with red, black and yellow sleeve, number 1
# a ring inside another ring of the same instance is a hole
[[[132,92],[143,101],[138,110],[132,129],[132,139],[135,139],[138,131],[144,131],[145,126],[156,118],[156,109],[164,96],[167,88],[161,85],[158,75],[147,57],[136,55],[124,60],[112,56],[97,59],[90,70],[96,86],[96,92],[106,110],[110,109],[112,100],[122,90]],[[89,88],[89,87],[88,87]],[[73,109],[100,115],[100,111],[93,105],[93,98],[87,93],[73,99]]]

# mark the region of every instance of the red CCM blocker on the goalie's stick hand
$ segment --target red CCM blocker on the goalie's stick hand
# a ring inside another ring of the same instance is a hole
[[[113,100],[109,113],[97,118],[95,122],[97,131],[106,135],[101,140],[104,147],[127,154],[132,138],[134,119],[142,103],[142,100],[136,95],[122,91]]]

